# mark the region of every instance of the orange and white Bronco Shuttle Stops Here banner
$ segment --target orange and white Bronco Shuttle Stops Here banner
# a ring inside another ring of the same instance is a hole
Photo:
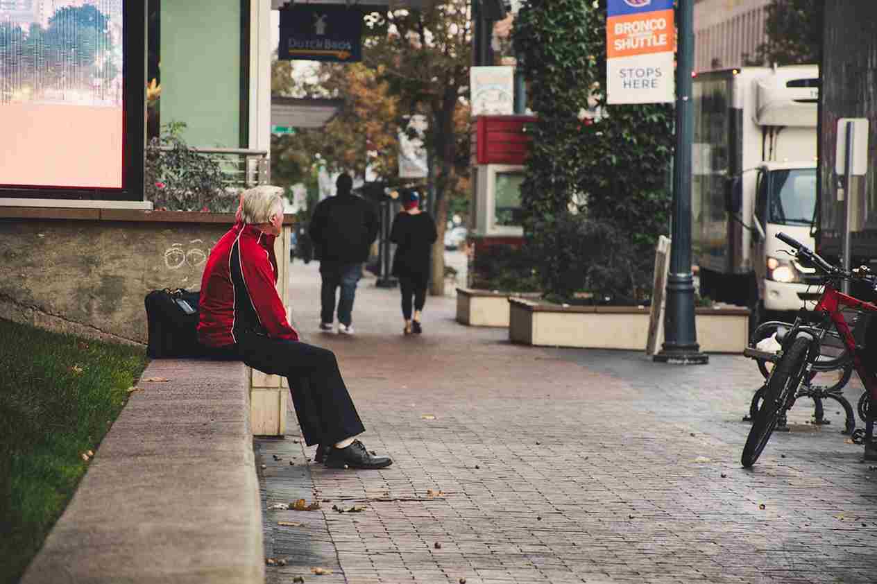
[[[673,0],[609,0],[607,17],[607,103],[673,102]]]

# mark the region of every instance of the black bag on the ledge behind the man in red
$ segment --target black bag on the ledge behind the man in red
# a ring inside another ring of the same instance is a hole
[[[149,344],[146,354],[153,359],[201,357],[198,343],[198,292],[182,288],[153,290],[146,295]]]

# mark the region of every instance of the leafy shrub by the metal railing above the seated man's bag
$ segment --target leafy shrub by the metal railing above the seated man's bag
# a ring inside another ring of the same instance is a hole
[[[161,125],[160,136],[146,145],[146,200],[163,210],[234,210],[237,199],[225,187],[222,168],[186,145],[185,128],[182,122]]]

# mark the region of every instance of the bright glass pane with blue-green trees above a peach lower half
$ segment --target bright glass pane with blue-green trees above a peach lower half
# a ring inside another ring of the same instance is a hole
[[[0,186],[121,189],[123,0],[0,0]]]

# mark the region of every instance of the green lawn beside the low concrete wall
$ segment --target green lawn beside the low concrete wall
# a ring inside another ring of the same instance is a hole
[[[146,365],[142,348],[0,319],[0,582],[16,582]],[[22,347],[27,347],[22,351]]]

